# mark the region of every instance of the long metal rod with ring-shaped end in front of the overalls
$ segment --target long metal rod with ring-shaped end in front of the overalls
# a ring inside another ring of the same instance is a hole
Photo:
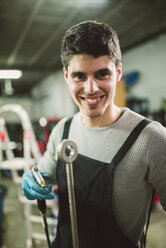
[[[73,248],[79,248],[73,165],[72,165],[72,162],[76,159],[77,154],[78,154],[77,146],[71,140],[65,139],[58,146],[58,157],[60,160],[66,163],[66,176],[67,176],[67,188],[69,195],[69,209],[70,209]]]

